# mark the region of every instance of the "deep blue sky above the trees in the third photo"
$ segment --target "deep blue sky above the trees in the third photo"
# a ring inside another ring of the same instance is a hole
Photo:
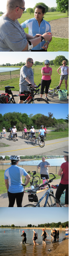
[[[47,115],[48,116],[48,112],[53,113],[53,117],[55,117],[56,119],[66,119],[67,115],[68,115],[68,109],[69,109],[69,104],[46,104],[46,105],[42,105],[42,104],[25,104],[25,105],[21,105],[21,104],[15,104],[15,105],[11,105],[9,104],[9,108],[8,105],[2,105],[0,104],[0,114],[5,114],[8,112],[21,112],[21,113],[26,113],[27,115],[30,114],[43,114],[43,115]]]

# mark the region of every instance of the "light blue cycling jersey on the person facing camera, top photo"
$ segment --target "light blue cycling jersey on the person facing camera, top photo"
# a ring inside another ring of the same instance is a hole
[[[50,26],[49,22],[47,22],[46,20],[42,20],[42,22],[40,24],[40,27],[39,27],[38,21],[35,18],[31,18],[31,19],[26,20],[25,22],[21,23],[21,26],[23,28],[27,28],[28,27],[28,34],[32,35],[33,37],[36,34],[43,35],[46,32],[51,32],[51,26]],[[40,49],[42,49],[41,47],[43,47],[43,45],[45,43],[46,43],[46,41],[39,43],[38,45],[33,47],[32,50],[40,50]]]

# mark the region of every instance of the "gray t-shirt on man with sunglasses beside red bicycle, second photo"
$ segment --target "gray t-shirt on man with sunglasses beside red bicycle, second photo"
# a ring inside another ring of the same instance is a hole
[[[31,83],[34,84],[34,75],[33,75],[32,68],[23,66],[21,67],[21,70],[20,70],[20,83],[19,83],[20,92],[24,92],[24,90],[28,91],[27,89],[28,82],[26,82],[25,80],[26,76],[30,79]]]

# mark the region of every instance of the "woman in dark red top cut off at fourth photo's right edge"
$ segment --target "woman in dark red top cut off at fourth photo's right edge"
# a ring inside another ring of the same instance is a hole
[[[66,207],[69,207],[69,156],[64,156],[64,160],[66,162],[61,164],[58,172],[58,175],[61,176],[61,182],[59,183],[55,196],[60,202],[62,192],[66,189],[65,204]],[[59,204],[57,204],[57,207],[59,207]]]

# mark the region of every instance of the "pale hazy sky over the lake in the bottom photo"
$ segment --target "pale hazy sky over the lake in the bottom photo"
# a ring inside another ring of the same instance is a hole
[[[68,221],[68,208],[26,208],[0,207],[0,226],[11,225],[27,226],[28,224],[38,225],[44,223],[58,223]]]

